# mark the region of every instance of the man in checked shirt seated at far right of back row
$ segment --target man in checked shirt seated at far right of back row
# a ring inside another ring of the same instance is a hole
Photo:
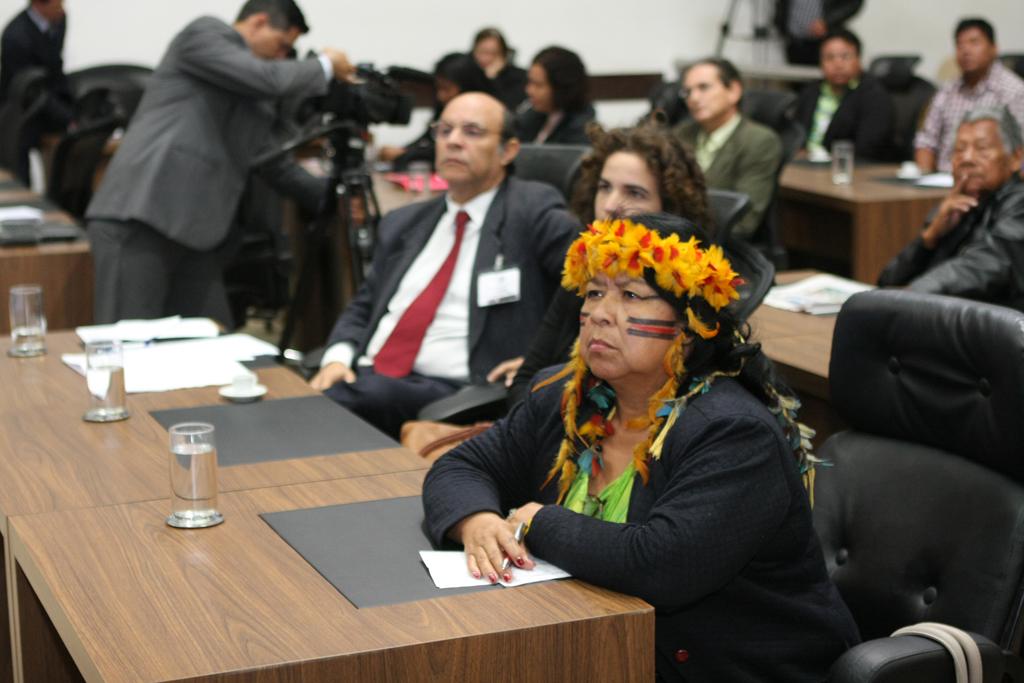
[[[925,173],[951,169],[956,129],[971,110],[1005,104],[1024,125],[1024,81],[999,62],[992,25],[966,18],[953,36],[962,76],[935,95],[913,139],[914,161]]]

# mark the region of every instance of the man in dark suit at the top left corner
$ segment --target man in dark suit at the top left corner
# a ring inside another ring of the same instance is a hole
[[[32,0],[0,37],[0,103],[7,98],[11,81],[26,69],[46,72],[46,100],[22,140],[18,168],[23,181],[29,179],[29,150],[39,145],[43,133],[62,132],[73,118],[73,99],[63,73],[63,39],[67,30],[63,0]]]

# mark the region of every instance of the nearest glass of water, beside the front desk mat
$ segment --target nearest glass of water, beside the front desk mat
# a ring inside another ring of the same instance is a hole
[[[171,514],[167,523],[203,528],[224,521],[217,511],[217,446],[213,425],[183,422],[171,434]]]

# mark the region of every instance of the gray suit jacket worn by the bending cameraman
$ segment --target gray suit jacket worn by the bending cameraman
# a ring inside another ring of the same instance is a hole
[[[138,220],[186,247],[215,247],[268,148],[275,100],[326,90],[317,60],[261,59],[227,24],[196,19],[154,73],[86,217]],[[303,206],[319,202],[324,182],[294,164],[263,171]]]

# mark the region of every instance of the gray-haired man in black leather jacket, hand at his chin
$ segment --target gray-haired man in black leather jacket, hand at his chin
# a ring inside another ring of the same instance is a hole
[[[952,189],[879,285],[1024,310],[1022,158],[1020,124],[1005,106],[968,113],[956,131]]]

